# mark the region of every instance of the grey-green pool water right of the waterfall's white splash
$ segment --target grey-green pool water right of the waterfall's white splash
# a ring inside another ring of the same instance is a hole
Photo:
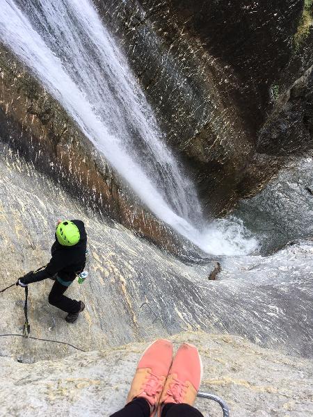
[[[313,236],[312,152],[290,161],[261,193],[234,212],[259,236],[262,252]]]

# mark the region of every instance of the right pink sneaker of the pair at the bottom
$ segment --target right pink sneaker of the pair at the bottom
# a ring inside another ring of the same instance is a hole
[[[168,403],[193,405],[202,378],[202,362],[197,347],[184,343],[177,350],[161,393],[158,417]]]

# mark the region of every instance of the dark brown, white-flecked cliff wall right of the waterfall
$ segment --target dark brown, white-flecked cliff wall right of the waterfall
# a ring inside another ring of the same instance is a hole
[[[291,97],[292,117],[279,100],[313,63],[311,1],[95,3],[209,211],[256,193],[288,154],[312,147],[310,87]]]

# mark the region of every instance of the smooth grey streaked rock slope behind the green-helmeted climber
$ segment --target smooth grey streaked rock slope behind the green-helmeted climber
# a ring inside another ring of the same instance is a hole
[[[202,329],[312,357],[312,243],[268,258],[219,259],[222,271],[211,281],[216,264],[183,263],[119,224],[86,213],[7,147],[1,149],[0,163],[1,287],[47,263],[56,219],[82,218],[90,239],[90,278],[69,290],[86,302],[79,325],[67,325],[65,314],[51,307],[56,327],[49,330],[52,283],[47,279],[29,286],[33,336],[90,350]],[[21,331],[23,297],[19,287],[1,295],[1,334]],[[34,361],[50,358],[56,350],[62,356],[72,352],[71,347],[33,342],[0,338],[1,354]]]

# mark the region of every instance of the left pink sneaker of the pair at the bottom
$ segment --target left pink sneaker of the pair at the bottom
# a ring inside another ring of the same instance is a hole
[[[171,363],[172,342],[159,339],[148,346],[138,362],[127,403],[145,398],[150,404],[151,417],[154,416]]]

